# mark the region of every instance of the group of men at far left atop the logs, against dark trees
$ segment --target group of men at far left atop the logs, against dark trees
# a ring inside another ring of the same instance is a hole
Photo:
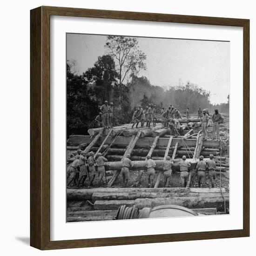
[[[113,126],[113,102],[105,101],[101,106],[101,112],[96,116],[94,121],[98,127],[112,128]]]

